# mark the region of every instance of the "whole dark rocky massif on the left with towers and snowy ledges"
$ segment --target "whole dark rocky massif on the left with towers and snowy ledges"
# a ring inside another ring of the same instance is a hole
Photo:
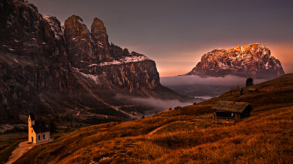
[[[61,26],[21,0],[0,1],[0,9],[0,122],[29,112],[103,122],[141,117],[145,108],[118,93],[188,100],[160,85],[153,60],[109,44],[98,18],[89,31],[76,15]]]

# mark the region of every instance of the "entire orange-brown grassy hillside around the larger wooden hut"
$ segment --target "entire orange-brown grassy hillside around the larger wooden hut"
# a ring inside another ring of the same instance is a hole
[[[64,133],[17,163],[290,163],[293,161],[293,74],[250,88],[257,94],[220,97],[130,122]],[[248,88],[244,88],[245,92]],[[252,116],[213,122],[218,100],[247,101]]]

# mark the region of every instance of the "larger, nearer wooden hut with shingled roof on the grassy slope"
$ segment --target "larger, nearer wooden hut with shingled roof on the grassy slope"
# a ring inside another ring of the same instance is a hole
[[[219,119],[239,120],[241,118],[250,117],[251,110],[253,110],[247,102],[235,101],[218,101],[212,109],[215,121]]]

